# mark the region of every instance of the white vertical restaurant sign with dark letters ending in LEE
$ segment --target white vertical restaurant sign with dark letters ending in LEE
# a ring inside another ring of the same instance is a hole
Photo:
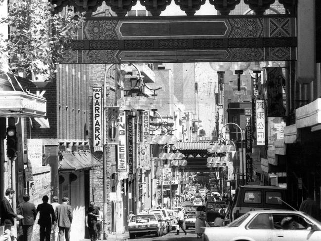
[[[118,172],[127,171],[127,150],[126,150],[126,115],[125,111],[119,110],[118,119],[119,142],[118,142]]]

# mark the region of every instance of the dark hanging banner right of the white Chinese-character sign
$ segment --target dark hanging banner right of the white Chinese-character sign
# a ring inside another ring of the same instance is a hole
[[[266,68],[267,75],[267,116],[284,117],[285,108],[283,106],[283,75],[281,67]]]

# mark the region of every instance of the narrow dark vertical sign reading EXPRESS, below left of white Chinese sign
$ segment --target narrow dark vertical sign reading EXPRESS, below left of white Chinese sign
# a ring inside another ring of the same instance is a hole
[[[246,118],[245,125],[245,173],[246,183],[253,181],[253,160],[251,158],[252,153],[252,130],[250,118]]]

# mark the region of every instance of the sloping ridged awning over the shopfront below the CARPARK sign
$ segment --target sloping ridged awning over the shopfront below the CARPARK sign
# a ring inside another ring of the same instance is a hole
[[[60,171],[77,171],[99,166],[100,162],[90,153],[63,153]]]

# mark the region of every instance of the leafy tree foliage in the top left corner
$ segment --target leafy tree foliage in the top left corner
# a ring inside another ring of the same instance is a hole
[[[24,71],[38,81],[55,76],[64,43],[76,37],[83,18],[72,11],[52,14],[53,7],[47,0],[10,1],[8,16],[0,19],[10,28],[8,38],[0,36],[0,58],[8,60],[9,72]]]

